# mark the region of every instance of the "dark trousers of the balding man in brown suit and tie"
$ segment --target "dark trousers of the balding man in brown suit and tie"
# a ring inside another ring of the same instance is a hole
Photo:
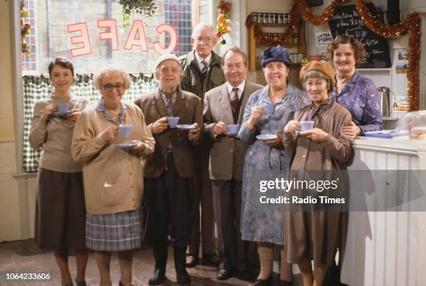
[[[216,214],[220,268],[246,268],[248,241],[242,241],[239,231],[241,223],[242,182],[235,180],[212,181]],[[255,263],[252,261],[251,263]]]

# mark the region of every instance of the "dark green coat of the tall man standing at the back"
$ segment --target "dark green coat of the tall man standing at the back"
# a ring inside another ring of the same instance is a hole
[[[204,99],[204,95],[208,90],[220,86],[226,81],[226,78],[221,67],[221,57],[212,51],[212,62],[208,67],[207,74],[202,83],[201,71],[198,66],[195,52],[196,51],[191,51],[179,58],[183,69],[180,88]]]

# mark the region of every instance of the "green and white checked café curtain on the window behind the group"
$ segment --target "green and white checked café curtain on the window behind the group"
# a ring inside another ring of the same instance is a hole
[[[158,86],[153,75],[130,74],[132,85],[123,97],[123,100],[133,102],[136,98],[141,97],[144,93],[148,93]],[[92,85],[93,74],[75,74],[74,84],[72,85],[72,94],[85,97],[94,104],[100,100],[99,90],[95,90]],[[33,118],[33,108],[38,100],[49,97],[52,93],[52,85],[49,77],[40,76],[24,76],[22,77],[23,97],[24,97],[24,142],[22,168],[25,173],[37,172],[36,161],[40,157],[41,149],[33,150],[28,142],[29,132],[31,128],[31,118]]]

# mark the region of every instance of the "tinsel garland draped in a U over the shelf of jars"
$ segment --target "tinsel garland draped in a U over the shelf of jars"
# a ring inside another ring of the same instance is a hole
[[[247,16],[246,27],[250,29],[251,26],[253,26],[256,42],[258,42],[260,45],[271,47],[276,45],[290,44],[292,40],[292,31],[294,28],[296,28],[299,21],[300,17],[299,13],[297,13],[297,6],[293,5],[292,9],[290,10],[290,21],[288,23],[283,24],[283,27],[285,27],[285,31],[280,40],[274,40],[273,36],[267,35],[267,33],[263,31],[262,27],[258,23],[254,22],[251,15]]]

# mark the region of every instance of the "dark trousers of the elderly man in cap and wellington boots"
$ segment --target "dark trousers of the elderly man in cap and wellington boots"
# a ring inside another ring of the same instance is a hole
[[[178,175],[173,153],[167,154],[167,170],[160,177],[145,178],[143,200],[145,241],[186,248],[191,237],[191,178]]]

